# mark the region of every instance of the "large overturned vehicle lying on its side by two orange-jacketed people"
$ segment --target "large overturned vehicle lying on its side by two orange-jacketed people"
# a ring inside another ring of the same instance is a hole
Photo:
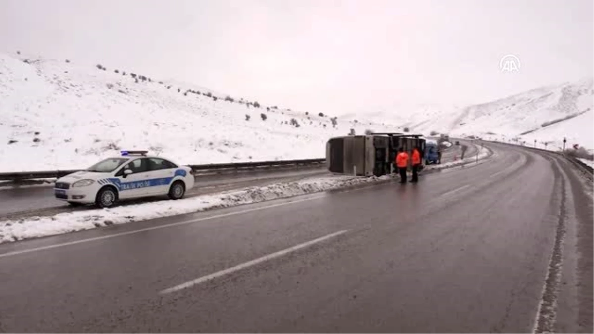
[[[326,143],[326,165],[328,171],[340,174],[359,176],[392,174],[396,169],[394,160],[401,147],[409,155],[412,155],[414,147],[419,147],[421,156],[424,156],[425,139],[420,134],[402,133],[334,137]],[[411,167],[409,159],[409,168]]]

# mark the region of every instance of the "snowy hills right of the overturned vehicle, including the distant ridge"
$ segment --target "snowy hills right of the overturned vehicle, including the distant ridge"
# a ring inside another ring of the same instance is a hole
[[[451,136],[479,136],[549,149],[579,144],[594,149],[594,79],[541,87],[466,108],[400,109],[374,115],[393,119],[415,133],[431,131]]]

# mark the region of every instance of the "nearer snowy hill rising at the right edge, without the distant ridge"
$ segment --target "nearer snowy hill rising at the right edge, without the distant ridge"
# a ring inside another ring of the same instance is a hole
[[[450,127],[501,140],[594,148],[594,80],[543,87],[466,108]]]

